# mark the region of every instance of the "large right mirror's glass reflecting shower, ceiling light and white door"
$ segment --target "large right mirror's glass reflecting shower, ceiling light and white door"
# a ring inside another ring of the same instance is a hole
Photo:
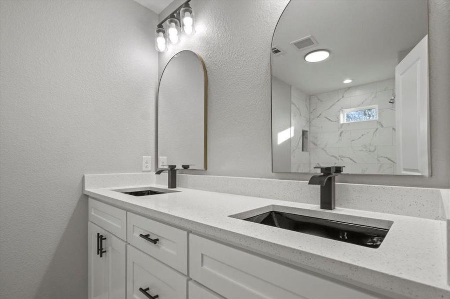
[[[271,63],[273,172],[430,174],[427,0],[292,0]]]

